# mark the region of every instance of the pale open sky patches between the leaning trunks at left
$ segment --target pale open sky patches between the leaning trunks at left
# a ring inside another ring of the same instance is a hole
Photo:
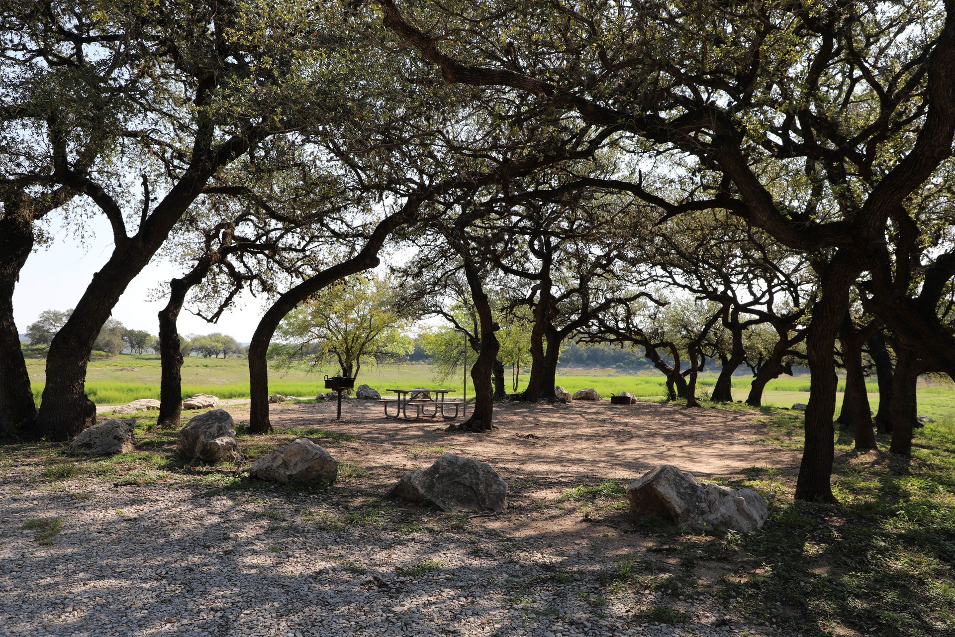
[[[34,250],[27,265],[20,271],[20,281],[13,292],[13,318],[19,332],[25,333],[44,309],[70,309],[83,295],[93,275],[113,251],[113,235],[103,215],[94,215],[87,225],[88,245],[81,246],[58,219],[53,219],[50,233],[53,243]],[[113,318],[129,329],[146,329],[159,333],[157,313],[166,300],[150,301],[157,287],[167,288],[169,279],[181,276],[180,268],[154,258],[126,287],[119,297]],[[247,343],[265,313],[265,303],[249,294],[237,297],[233,308],[223,313],[216,325],[206,323],[186,309],[179,317],[180,334],[207,334],[221,331]]]

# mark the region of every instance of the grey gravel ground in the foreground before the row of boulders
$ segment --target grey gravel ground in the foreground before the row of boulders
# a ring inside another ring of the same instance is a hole
[[[783,634],[726,623],[706,597],[686,603],[689,621],[676,626],[636,617],[605,600],[615,566],[584,546],[486,529],[329,528],[320,496],[263,494],[5,484],[0,634]],[[49,517],[63,520],[53,546],[19,524]]]

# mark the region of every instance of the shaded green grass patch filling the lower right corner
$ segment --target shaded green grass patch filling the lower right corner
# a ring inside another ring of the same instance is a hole
[[[768,420],[767,440],[800,446],[800,416]],[[888,437],[879,436],[882,450]],[[715,587],[733,611],[774,617],[803,634],[955,633],[955,419],[919,430],[911,459],[857,455],[838,432],[839,503],[796,501],[779,472],[751,467],[730,480],[775,492],[760,532],[707,542],[734,570]],[[790,489],[792,483],[790,483]]]

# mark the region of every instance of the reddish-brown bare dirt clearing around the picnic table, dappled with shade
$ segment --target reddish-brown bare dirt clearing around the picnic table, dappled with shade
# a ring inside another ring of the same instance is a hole
[[[223,407],[237,423],[248,418],[247,403]],[[340,463],[363,468],[354,487],[368,495],[382,495],[405,472],[428,466],[443,453],[474,457],[508,482],[509,502],[507,514],[476,522],[513,537],[586,543],[588,550],[609,555],[632,547],[633,538],[606,533],[607,520],[582,518],[575,506],[555,506],[564,491],[608,479],[633,480],[660,463],[702,479],[737,476],[753,466],[795,473],[796,452],[758,441],[763,417],[648,401],[512,402],[495,407],[497,431],[467,434],[446,432],[447,421],[440,418],[386,418],[382,405],[372,401],[344,402],[341,420],[335,419],[333,402],[270,406],[276,435],[308,427],[348,435],[329,452]]]

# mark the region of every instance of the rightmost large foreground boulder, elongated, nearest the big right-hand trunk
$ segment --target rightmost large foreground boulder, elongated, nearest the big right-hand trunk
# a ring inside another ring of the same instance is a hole
[[[626,487],[633,513],[652,513],[699,532],[748,533],[769,516],[766,500],[753,489],[700,482],[671,464],[658,464]]]

